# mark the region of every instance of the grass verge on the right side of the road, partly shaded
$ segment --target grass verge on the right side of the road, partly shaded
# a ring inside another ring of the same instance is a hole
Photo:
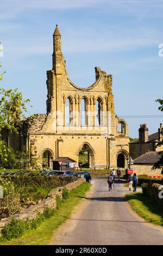
[[[139,216],[149,223],[163,226],[163,211],[152,199],[143,196],[142,192],[127,194],[126,198]]]

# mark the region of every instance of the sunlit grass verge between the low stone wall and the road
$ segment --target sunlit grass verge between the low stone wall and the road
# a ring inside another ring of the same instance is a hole
[[[54,230],[70,217],[74,207],[80,202],[81,197],[90,189],[89,182],[83,182],[72,190],[67,200],[62,202],[60,208],[55,210],[55,215],[41,223],[36,230],[27,231],[19,239],[5,241],[0,239],[0,245],[48,245]]]

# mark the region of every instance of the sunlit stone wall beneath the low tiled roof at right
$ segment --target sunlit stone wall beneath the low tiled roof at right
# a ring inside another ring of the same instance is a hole
[[[153,164],[133,164],[131,169],[134,170],[136,175],[148,175],[148,176],[162,176],[161,169],[152,169]]]

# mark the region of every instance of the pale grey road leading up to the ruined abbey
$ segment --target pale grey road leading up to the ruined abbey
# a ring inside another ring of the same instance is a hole
[[[125,201],[128,188],[116,183],[109,192],[105,178],[92,179],[92,184],[51,245],[163,245],[163,228],[145,223]]]

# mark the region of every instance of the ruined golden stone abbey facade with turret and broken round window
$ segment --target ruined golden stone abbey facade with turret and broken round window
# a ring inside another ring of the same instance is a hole
[[[19,144],[25,144],[40,164],[47,151],[51,168],[54,159],[65,156],[78,166],[83,148],[90,168],[126,167],[128,125],[115,114],[112,75],[96,67],[95,83],[79,88],[68,77],[58,27],[53,34],[53,48],[53,68],[47,71],[47,114],[35,114],[24,121]]]

